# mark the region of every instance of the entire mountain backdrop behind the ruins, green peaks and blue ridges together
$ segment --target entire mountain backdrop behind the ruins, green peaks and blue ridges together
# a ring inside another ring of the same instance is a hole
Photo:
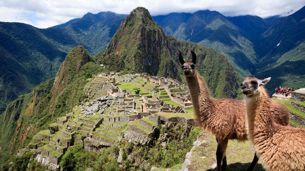
[[[71,112],[86,99],[84,85],[99,72],[145,73],[185,82],[180,52],[189,60],[190,51],[196,52],[198,71],[216,98],[239,98],[239,82],[250,74],[275,77],[272,86],[302,86],[304,16],[303,7],[291,16],[270,19],[228,18],[208,10],[156,18],[138,7],[125,17],[87,13],[48,29],[2,22],[0,155],[25,147],[46,124]],[[167,20],[176,26],[164,24]]]

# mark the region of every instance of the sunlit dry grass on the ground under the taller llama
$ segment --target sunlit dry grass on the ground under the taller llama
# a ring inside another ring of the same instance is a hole
[[[212,170],[211,166],[216,163],[217,142],[215,136],[203,131],[198,140],[204,140],[206,143],[192,148],[191,163],[187,165],[187,168],[196,171]],[[246,170],[253,160],[254,150],[249,141],[229,140],[226,156],[227,171]],[[264,170],[260,162],[258,162],[255,170]]]

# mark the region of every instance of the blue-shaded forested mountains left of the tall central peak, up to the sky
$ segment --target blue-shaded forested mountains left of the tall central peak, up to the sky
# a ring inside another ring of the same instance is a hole
[[[19,95],[56,76],[67,53],[77,45],[96,55],[104,50],[124,15],[87,13],[54,28],[0,22],[0,114]]]

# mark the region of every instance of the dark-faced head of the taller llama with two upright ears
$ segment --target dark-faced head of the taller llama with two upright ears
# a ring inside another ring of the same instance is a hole
[[[179,61],[181,63],[181,68],[185,77],[192,77],[196,75],[195,67],[196,67],[197,56],[195,52],[193,51],[191,52],[192,52],[192,62],[185,62],[184,59],[182,58],[181,53],[179,54]]]

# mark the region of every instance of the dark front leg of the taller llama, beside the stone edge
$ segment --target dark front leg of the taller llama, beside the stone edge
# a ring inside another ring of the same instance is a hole
[[[217,150],[216,150],[216,160],[217,160],[217,171],[225,170],[227,166],[226,150],[228,145],[228,140],[221,140],[216,138]],[[221,166],[222,163],[222,166]]]

